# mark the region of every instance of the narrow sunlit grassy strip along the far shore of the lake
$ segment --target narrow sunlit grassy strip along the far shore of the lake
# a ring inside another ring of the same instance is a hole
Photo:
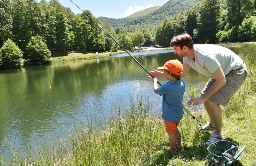
[[[153,50],[162,50],[162,49],[172,49],[172,48],[154,48],[154,49],[142,49],[138,50],[140,52],[144,51],[153,51]],[[138,52],[138,51],[128,51],[129,53]],[[67,52],[54,52],[51,58],[52,63],[64,62],[64,61],[74,61],[81,59],[97,58],[97,57],[107,57],[114,56],[119,54],[126,54],[124,50],[112,51],[112,52],[89,52],[89,51],[67,51]]]

